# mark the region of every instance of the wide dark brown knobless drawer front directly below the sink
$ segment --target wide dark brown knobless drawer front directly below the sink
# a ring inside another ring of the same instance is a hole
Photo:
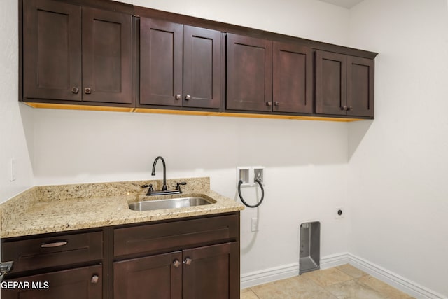
[[[113,237],[115,256],[216,244],[239,239],[239,214],[117,228]]]

